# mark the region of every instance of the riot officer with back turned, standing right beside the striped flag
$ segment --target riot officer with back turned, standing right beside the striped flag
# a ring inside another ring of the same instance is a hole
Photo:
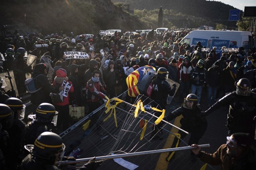
[[[153,86],[153,90],[150,98],[154,100],[154,102],[152,103],[152,106],[157,107],[157,105],[159,105],[161,107],[159,109],[165,109],[168,94],[170,96],[173,96],[175,94],[176,85],[175,83],[173,83],[172,84],[173,87],[171,88],[170,83],[167,81],[168,71],[166,68],[160,67],[157,70],[157,73],[155,74],[157,77],[156,78],[154,77],[151,82]],[[156,113],[156,116],[160,116],[160,115],[161,115],[161,112]],[[156,125],[156,127],[154,127],[153,132],[151,133],[151,137],[159,140],[162,139],[160,136],[156,135],[159,129],[161,129],[162,124],[163,122],[160,122],[158,125]]]

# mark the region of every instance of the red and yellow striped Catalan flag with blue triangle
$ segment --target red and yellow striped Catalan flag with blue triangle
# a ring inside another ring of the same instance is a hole
[[[140,94],[137,85],[142,80],[143,75],[147,72],[148,69],[155,70],[156,69],[152,66],[146,65],[138,68],[137,70],[133,71],[128,77],[126,78],[126,84],[128,86],[128,95],[130,97],[136,97]]]

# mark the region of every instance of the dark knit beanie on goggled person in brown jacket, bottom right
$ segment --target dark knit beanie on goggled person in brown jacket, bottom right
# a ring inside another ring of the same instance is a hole
[[[249,133],[234,133],[232,136],[234,136],[237,145],[242,148],[249,148],[255,142],[254,137]]]

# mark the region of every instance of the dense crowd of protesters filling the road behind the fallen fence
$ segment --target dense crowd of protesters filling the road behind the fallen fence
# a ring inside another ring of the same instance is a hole
[[[247,78],[251,88],[256,87],[256,48],[245,51],[240,47],[237,53],[216,52],[216,47],[204,51],[200,42],[192,46],[180,43],[190,31],[156,33],[152,29],[144,36],[115,32],[112,36],[93,37],[75,36],[73,32],[48,35],[15,32],[0,39],[2,71],[14,71],[19,95],[26,92],[22,83],[26,73],[38,79],[35,81],[38,91],[31,95],[31,103],[34,109],[42,103],[53,104],[63,115],[57,124],[61,131],[69,126],[64,122],[68,119],[69,105],[85,106],[88,114],[102,104],[102,99],[126,92],[126,77],[141,66],[150,65],[156,71],[166,68],[168,78],[180,83],[178,102],[191,90],[197,96],[198,106],[205,86],[208,107],[223,93],[233,92],[235,82],[241,78]],[[36,56],[35,68],[26,64],[25,51]],[[87,53],[88,58],[67,59],[64,52],[69,51]],[[49,95],[64,90],[63,81],[72,88],[62,101],[54,101]]]

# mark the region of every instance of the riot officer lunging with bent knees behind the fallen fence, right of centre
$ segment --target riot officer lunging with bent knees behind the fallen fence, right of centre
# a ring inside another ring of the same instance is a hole
[[[164,119],[166,121],[171,121],[175,117],[182,115],[183,118],[180,120],[181,129],[191,133],[189,138],[189,145],[193,143],[198,144],[199,139],[202,138],[206,129],[207,129],[207,121],[205,117],[201,116],[201,108],[197,105],[197,96],[195,94],[189,94],[184,99],[184,104],[182,107],[171,112],[168,116]],[[180,139],[185,138],[187,135],[183,131],[179,131]],[[171,148],[175,148],[176,143],[178,142],[178,137],[176,136]],[[166,161],[170,161],[172,152],[166,157]],[[195,156],[191,152],[192,161],[194,161]]]

